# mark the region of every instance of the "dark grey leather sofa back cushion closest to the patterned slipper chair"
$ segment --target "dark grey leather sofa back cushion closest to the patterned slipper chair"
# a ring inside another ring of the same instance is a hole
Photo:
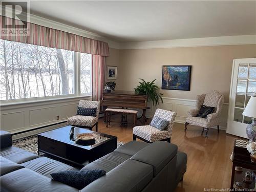
[[[177,145],[155,141],[150,145],[142,148],[134,156],[133,160],[150,164],[154,167],[154,177],[162,170],[162,168],[177,154]]]

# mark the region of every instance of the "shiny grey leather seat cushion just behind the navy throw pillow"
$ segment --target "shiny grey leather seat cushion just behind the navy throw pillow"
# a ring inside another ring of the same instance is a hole
[[[75,168],[72,166],[61,163],[59,161],[55,161],[53,159],[49,159],[47,157],[39,157],[24,162],[21,165],[49,178],[52,178],[50,174],[55,172],[60,172],[62,170],[75,170]]]

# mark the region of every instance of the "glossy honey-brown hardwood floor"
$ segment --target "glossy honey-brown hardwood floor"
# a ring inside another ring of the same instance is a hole
[[[118,121],[119,117],[112,117]],[[133,122],[132,119],[128,119]],[[150,122],[150,120],[148,120]],[[138,121],[138,124],[140,122]],[[99,132],[118,137],[118,141],[129,142],[133,139],[133,125],[126,127],[120,123],[111,122],[106,128],[103,118],[99,119]],[[204,191],[205,188],[229,188],[231,181],[232,162],[230,155],[235,136],[226,134],[226,131],[210,129],[208,139],[201,136],[202,128],[188,125],[184,131],[184,124],[175,123],[171,142],[178,145],[178,150],[188,156],[187,171],[183,182],[180,182],[176,191]]]

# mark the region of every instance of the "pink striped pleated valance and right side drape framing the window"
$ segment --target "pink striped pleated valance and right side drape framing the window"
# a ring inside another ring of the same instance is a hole
[[[2,31],[3,19],[8,25],[19,22],[13,18],[0,16],[0,31]],[[33,23],[26,22],[26,24],[29,30],[28,34],[8,35],[1,33],[0,38],[25,44],[92,54],[92,96],[93,100],[100,101],[105,80],[105,57],[109,56],[108,43]]]

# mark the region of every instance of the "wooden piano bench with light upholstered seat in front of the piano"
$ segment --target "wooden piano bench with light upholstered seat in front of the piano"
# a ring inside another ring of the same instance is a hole
[[[125,115],[125,121],[127,121],[126,115],[133,115],[133,124],[134,124],[134,126],[136,126],[136,124],[137,124],[138,111],[136,111],[136,110],[107,108],[105,110],[105,113],[106,113],[106,127],[108,127],[110,125],[111,114]]]

